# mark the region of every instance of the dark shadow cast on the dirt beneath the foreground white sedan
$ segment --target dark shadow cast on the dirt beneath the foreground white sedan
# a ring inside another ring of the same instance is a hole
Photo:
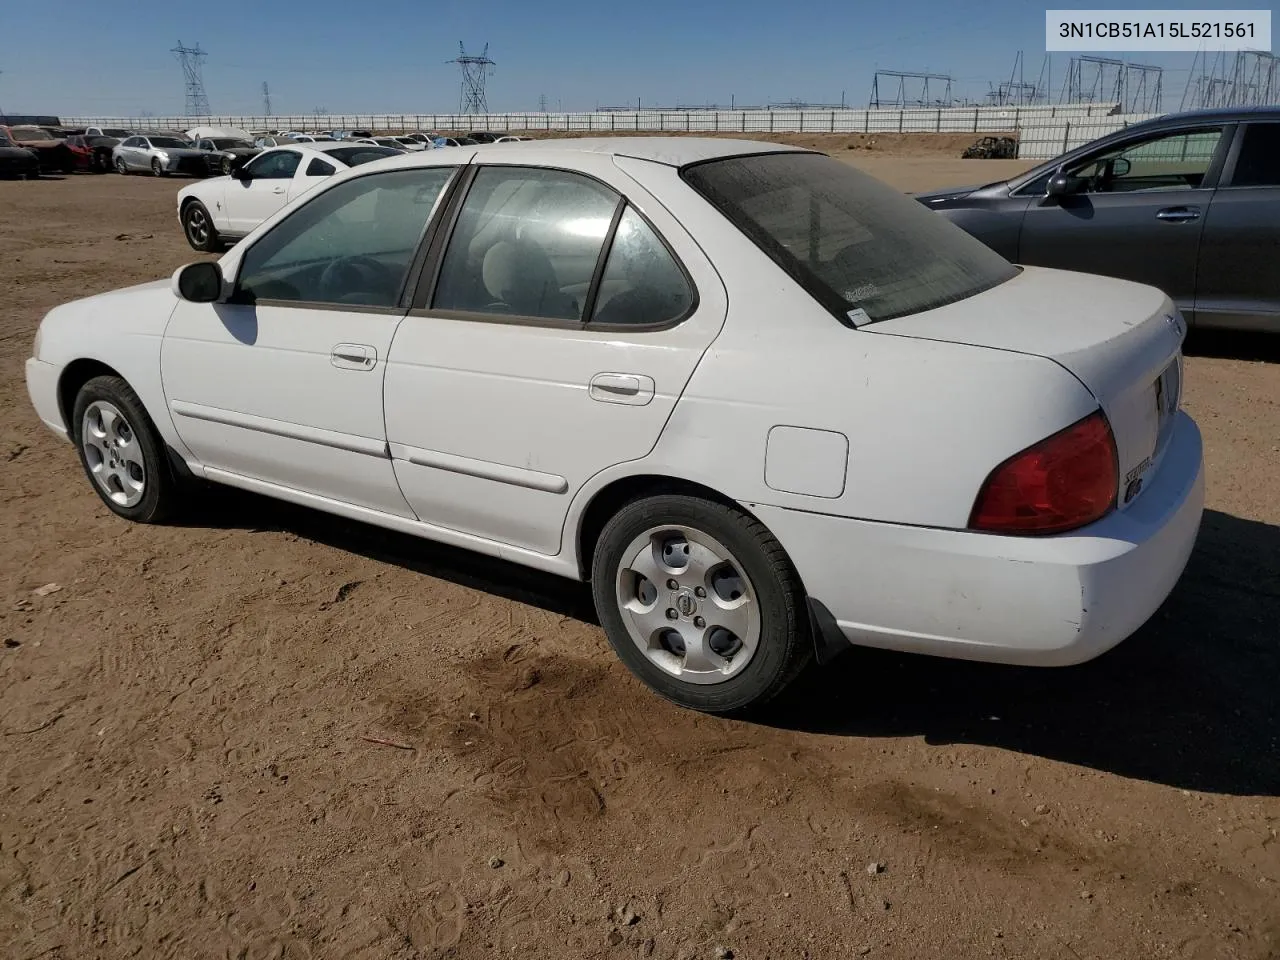
[[[282,529],[596,623],[582,584],[220,490],[200,521]],[[1280,527],[1207,511],[1187,572],[1133,637],[1030,669],[851,649],[754,722],[984,744],[1188,790],[1280,796]]]

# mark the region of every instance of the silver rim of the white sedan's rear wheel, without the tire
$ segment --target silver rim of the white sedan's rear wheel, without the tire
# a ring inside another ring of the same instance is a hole
[[[652,527],[622,553],[618,611],[649,660],[687,684],[741,673],[760,643],[760,604],[742,564],[713,536]]]

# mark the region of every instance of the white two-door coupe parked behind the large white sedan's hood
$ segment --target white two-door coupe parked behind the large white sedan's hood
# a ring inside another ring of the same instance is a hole
[[[178,191],[178,220],[192,250],[216,252],[339,170],[397,154],[337,142],[264,150],[225,177]]]

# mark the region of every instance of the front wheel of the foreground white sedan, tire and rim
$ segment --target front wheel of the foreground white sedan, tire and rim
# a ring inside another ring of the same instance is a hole
[[[95,376],[76,394],[76,449],[84,475],[108,509],[136,524],[163,524],[178,508],[164,440],[133,388],[119,376]]]

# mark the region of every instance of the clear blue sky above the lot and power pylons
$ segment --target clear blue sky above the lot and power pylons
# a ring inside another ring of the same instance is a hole
[[[1069,4],[1055,3],[1055,8]],[[1166,9],[1196,9],[1208,3]],[[865,106],[876,69],[955,78],[980,100],[1044,60],[1044,5],[1020,0],[307,0],[179,4],[56,0],[8,4],[0,17],[0,110],[64,116],[180,115],[170,49],[198,44],[212,114],[448,113],[458,68],[489,44],[492,111],[805,100]],[[1139,4],[1084,4],[1132,9]],[[1247,6],[1234,4],[1233,6]],[[1105,54],[1106,56],[1117,56]],[[1070,54],[1051,63],[1051,99]],[[1192,54],[1135,54],[1165,67],[1178,109]],[[882,87],[882,95],[884,90]]]

